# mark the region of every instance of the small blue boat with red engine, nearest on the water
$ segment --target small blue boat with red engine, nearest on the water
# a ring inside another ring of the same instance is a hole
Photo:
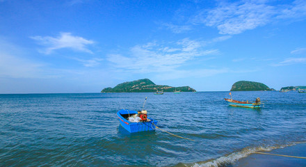
[[[132,111],[122,109],[117,112],[117,116],[119,118],[120,125],[122,125],[122,127],[127,129],[127,131],[130,133],[154,131],[156,129],[155,125],[157,125],[158,122],[157,120],[147,117],[147,111],[145,110]]]

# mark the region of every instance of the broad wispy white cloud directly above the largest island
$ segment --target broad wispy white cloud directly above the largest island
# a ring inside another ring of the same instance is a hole
[[[110,54],[107,60],[118,69],[131,72],[169,72],[200,56],[216,55],[217,49],[205,50],[202,42],[185,38],[175,42],[174,46],[136,45],[130,49],[129,56]]]

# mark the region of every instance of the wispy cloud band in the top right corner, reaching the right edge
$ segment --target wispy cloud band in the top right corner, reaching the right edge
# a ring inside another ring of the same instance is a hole
[[[192,22],[219,30],[220,34],[238,34],[264,26],[277,19],[305,19],[306,1],[297,0],[289,5],[270,6],[266,1],[221,2],[213,10],[202,10]]]

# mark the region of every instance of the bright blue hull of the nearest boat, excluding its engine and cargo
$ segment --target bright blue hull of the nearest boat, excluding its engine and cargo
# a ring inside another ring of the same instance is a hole
[[[137,113],[137,111],[131,111],[122,109],[117,112],[117,116],[120,121],[120,125],[124,127],[128,132],[130,133],[136,133],[136,132],[143,132],[143,131],[154,131],[156,127],[154,125],[157,125],[157,120],[153,120],[152,118],[149,118],[150,121],[148,122],[130,122],[126,118],[124,118],[122,115],[130,114],[133,115]]]

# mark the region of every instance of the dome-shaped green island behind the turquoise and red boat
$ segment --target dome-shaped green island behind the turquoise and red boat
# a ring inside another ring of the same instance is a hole
[[[266,86],[255,81],[237,81],[232,85],[230,91],[257,91],[257,90],[273,90]]]

